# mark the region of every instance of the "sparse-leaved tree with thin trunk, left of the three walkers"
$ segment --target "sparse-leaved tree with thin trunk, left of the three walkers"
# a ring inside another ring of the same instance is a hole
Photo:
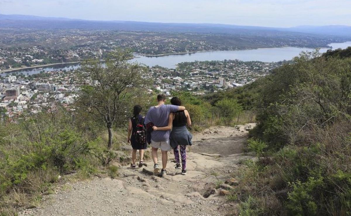
[[[97,60],[86,61],[82,65],[82,73],[90,79],[90,83],[81,87],[79,102],[82,109],[105,123],[108,149],[112,146],[114,122],[125,118],[126,104],[143,84],[145,67],[128,62],[132,57],[129,50],[118,50],[108,55],[105,65]]]

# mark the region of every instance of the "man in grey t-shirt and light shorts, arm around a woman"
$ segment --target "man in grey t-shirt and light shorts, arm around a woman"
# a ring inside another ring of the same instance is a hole
[[[152,106],[147,111],[145,117],[145,125],[148,123],[153,123],[157,127],[168,126],[168,116],[171,112],[177,112],[185,110],[184,106],[175,106],[175,105],[165,105],[166,95],[160,93],[157,96],[157,106]],[[152,131],[151,132],[151,155],[154,162],[154,174],[157,175],[160,173],[160,168],[157,163],[157,150],[161,148],[162,153],[162,170],[161,175],[166,174],[166,165],[168,160],[167,151],[172,149],[170,145],[170,133],[171,131]]]

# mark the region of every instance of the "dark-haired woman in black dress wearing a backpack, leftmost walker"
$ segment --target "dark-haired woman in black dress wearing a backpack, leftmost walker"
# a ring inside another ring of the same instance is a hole
[[[142,167],[143,157],[144,157],[144,149],[147,148],[146,143],[146,132],[144,121],[145,118],[140,115],[141,106],[135,105],[133,108],[133,116],[129,119],[128,125],[128,137],[127,142],[132,144],[132,163],[131,168],[135,169],[135,160],[137,159],[137,150],[139,150],[140,162],[139,167]]]

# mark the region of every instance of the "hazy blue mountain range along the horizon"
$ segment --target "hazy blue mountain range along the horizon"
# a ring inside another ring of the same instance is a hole
[[[238,26],[211,23],[161,23],[137,21],[94,21],[68,18],[50,18],[31,15],[0,14],[0,28],[34,29],[97,29],[159,32],[193,32],[220,34],[250,34],[270,32],[290,32],[328,35],[351,38],[351,26],[297,26],[291,28],[273,28],[259,26]]]

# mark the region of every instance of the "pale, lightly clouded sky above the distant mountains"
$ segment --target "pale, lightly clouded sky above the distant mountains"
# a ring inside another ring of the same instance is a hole
[[[0,0],[0,14],[268,27],[351,25],[351,0]]]

